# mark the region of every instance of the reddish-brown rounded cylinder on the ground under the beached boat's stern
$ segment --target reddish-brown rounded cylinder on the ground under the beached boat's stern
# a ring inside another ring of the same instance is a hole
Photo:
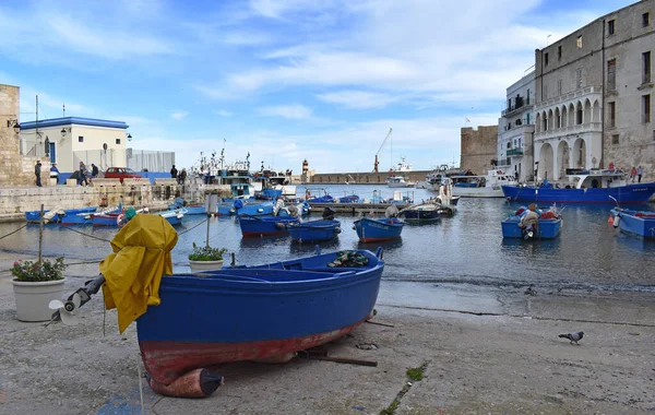
[[[159,394],[175,398],[205,398],[225,382],[223,376],[209,369],[194,369],[180,376],[170,384],[148,379],[151,389]]]

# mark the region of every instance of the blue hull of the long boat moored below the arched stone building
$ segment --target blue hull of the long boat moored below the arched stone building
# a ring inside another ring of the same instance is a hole
[[[503,186],[511,201],[535,203],[646,203],[655,193],[655,182],[626,185],[616,188],[553,189]],[[611,197],[611,198],[610,198]]]

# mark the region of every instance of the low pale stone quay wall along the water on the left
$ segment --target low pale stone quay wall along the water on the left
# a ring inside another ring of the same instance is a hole
[[[0,188],[0,222],[25,218],[25,212],[56,206],[79,209],[87,206],[123,206],[165,210],[176,198],[189,203],[203,203],[205,193],[229,194],[227,185],[108,185],[96,187],[50,186]]]

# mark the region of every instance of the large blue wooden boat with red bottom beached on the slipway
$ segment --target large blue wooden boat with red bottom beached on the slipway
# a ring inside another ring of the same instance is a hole
[[[162,304],[136,320],[145,369],[170,384],[194,369],[237,360],[285,361],[295,352],[342,337],[372,316],[384,269],[380,257],[381,249],[377,254],[357,250],[224,268],[203,277],[165,275]]]

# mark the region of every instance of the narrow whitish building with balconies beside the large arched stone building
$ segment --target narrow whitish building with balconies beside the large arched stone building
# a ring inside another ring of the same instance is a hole
[[[498,167],[513,174],[522,182],[532,181],[535,72],[523,76],[507,91],[505,108],[498,120]]]

